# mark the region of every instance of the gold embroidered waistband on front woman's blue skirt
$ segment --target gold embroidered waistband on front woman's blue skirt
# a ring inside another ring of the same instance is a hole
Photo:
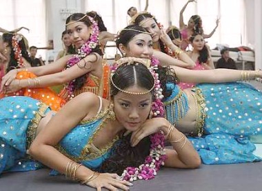
[[[34,141],[37,135],[37,127],[39,125],[39,122],[43,117],[46,117],[45,112],[48,108],[49,108],[48,105],[46,105],[45,103],[40,103],[39,110],[34,115],[34,118],[31,119],[31,123],[28,126],[28,130],[26,132],[26,149],[27,150],[30,148],[32,141]]]

